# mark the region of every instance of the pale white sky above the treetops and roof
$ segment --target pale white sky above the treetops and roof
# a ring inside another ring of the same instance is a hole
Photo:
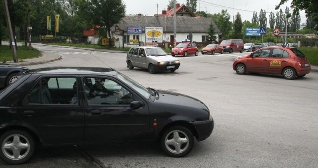
[[[126,14],[138,14],[154,16],[155,14],[161,14],[162,10],[167,10],[167,4],[169,0],[122,0],[126,4]],[[286,6],[290,8],[292,0],[288,0],[280,8],[285,12]],[[275,6],[280,0],[197,0],[197,11],[205,11],[206,13],[221,13],[222,9],[227,9],[231,15],[231,21],[233,16],[238,12],[241,15],[242,21],[251,21],[253,11],[258,12],[260,9],[266,10],[266,17],[269,18],[270,12],[273,12],[276,16]],[[176,3],[186,4],[186,0],[176,0]],[[157,8],[158,5],[158,8]],[[158,11],[158,12],[157,12]],[[291,10],[292,11],[292,10]],[[306,23],[306,14],[304,11],[300,12],[301,25]],[[235,19],[235,18],[234,18]]]

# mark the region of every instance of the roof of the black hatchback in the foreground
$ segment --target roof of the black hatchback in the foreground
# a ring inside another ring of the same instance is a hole
[[[112,68],[103,67],[49,67],[32,69],[24,74],[78,74],[78,75],[112,75],[116,76],[117,71]]]

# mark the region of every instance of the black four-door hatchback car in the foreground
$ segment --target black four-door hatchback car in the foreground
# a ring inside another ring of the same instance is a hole
[[[28,70],[0,91],[0,157],[30,159],[36,144],[159,141],[183,157],[208,138],[214,120],[200,100],[144,87],[108,68]]]

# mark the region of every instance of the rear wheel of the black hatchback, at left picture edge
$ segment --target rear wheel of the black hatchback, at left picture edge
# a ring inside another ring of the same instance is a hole
[[[34,152],[33,137],[20,130],[11,130],[2,134],[0,138],[1,159],[12,165],[23,164],[28,161]]]

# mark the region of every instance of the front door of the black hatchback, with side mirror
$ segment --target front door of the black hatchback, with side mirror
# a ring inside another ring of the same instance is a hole
[[[87,78],[95,81],[92,77]],[[147,103],[143,102],[144,107],[130,110],[131,101],[143,100],[117,80],[107,78],[103,81],[102,87],[107,92],[100,93],[96,97],[89,93],[85,94],[87,103],[84,107],[85,142],[102,143],[145,139],[149,132]],[[93,91],[90,90],[90,92]]]

